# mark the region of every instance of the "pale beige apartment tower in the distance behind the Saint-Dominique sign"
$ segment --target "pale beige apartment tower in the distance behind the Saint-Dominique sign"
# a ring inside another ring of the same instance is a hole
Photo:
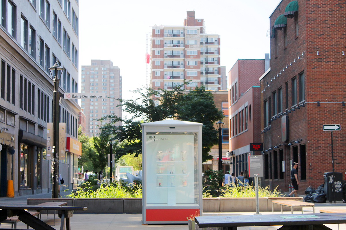
[[[97,135],[100,121],[96,119],[108,114],[121,117],[121,108],[118,108],[121,99],[120,69],[113,66],[110,60],[91,60],[91,66],[82,66],[82,93],[106,93],[103,99],[81,99],[82,109],[86,117],[85,133],[89,136]],[[121,125],[119,122],[117,125]]]

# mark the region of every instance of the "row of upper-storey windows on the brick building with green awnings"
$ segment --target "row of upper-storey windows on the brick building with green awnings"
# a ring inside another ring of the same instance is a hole
[[[298,82],[297,82],[298,78]],[[289,108],[289,82],[285,82],[285,109]],[[297,90],[297,84],[299,91]],[[264,109],[264,127],[268,126],[268,121],[272,116],[283,112],[283,89],[282,86],[272,92],[272,95],[268,97],[263,102]],[[297,94],[298,91],[298,94]],[[304,83],[304,72],[298,74],[298,77],[295,76],[291,79],[291,107],[297,105],[297,100],[302,102],[305,100],[305,83]]]

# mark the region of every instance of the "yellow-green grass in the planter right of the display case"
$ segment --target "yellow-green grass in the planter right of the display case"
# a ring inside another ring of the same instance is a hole
[[[239,181],[242,184],[241,181]],[[258,197],[282,197],[280,191],[277,191],[277,187],[273,191],[269,189],[269,186],[262,188],[258,187]],[[255,197],[255,188],[254,186],[238,186],[236,187],[233,182],[231,184],[226,184],[221,189],[222,194],[220,197]]]

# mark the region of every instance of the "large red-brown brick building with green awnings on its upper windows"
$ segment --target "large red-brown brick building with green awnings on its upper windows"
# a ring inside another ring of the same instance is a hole
[[[270,16],[271,70],[260,78],[262,186],[287,191],[292,161],[298,193],[324,182],[332,164],[323,124],[341,125],[333,132],[334,167],[345,172],[345,14],[345,1],[282,0]]]

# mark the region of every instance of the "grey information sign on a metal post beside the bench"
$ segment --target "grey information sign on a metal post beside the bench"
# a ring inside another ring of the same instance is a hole
[[[256,214],[260,214],[258,177],[263,177],[263,156],[249,156],[249,177],[255,177]]]

